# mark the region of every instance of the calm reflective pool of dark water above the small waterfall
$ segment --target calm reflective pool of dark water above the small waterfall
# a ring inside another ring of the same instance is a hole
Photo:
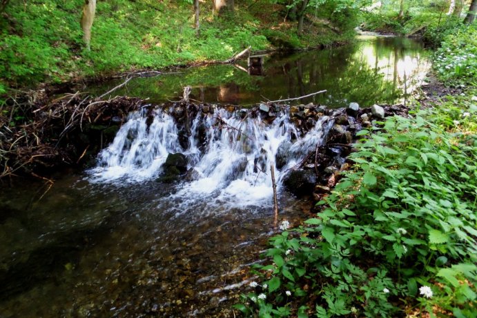
[[[361,37],[356,43],[332,50],[266,56],[260,75],[251,75],[246,61],[241,61],[235,66],[191,68],[182,74],[135,79],[116,93],[159,103],[178,99],[188,85],[193,87],[191,97],[196,101],[252,105],[327,90],[326,95],[298,102],[341,107],[356,101],[369,106],[392,103],[405,90],[411,92],[430,68],[428,56],[422,45],[411,39]],[[105,92],[117,84],[91,90]]]

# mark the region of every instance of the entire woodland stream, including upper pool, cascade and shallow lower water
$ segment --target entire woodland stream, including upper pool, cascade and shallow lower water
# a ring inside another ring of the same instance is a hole
[[[256,75],[237,66],[191,68],[133,79],[115,95],[162,103],[189,85],[191,99],[248,106],[327,90],[299,102],[365,107],[419,86],[428,55],[410,39],[361,37],[341,48],[266,56]],[[87,89],[99,95],[121,81]],[[231,305],[253,279],[248,268],[263,261],[260,251],[277,231],[270,168],[279,221],[298,226],[313,201],[286,192],[282,180],[333,122],[322,116],[301,132],[287,109],[265,123],[216,107],[195,115],[191,135],[180,139],[175,111],[129,114],[95,167],[57,172],[50,188],[39,180],[0,183],[0,318],[237,315]],[[162,167],[179,152],[188,180],[166,182]]]

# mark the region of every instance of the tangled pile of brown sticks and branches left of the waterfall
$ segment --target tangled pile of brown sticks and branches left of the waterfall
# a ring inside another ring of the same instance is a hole
[[[0,108],[0,178],[78,163],[141,105],[141,99],[100,100],[79,92],[54,100],[44,92],[10,97]]]

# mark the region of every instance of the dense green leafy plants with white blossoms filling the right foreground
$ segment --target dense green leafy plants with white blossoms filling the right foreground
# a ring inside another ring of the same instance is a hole
[[[271,239],[249,317],[476,317],[476,110],[390,117],[305,225]],[[473,128],[469,131],[467,128]],[[246,305],[246,306],[245,306]]]

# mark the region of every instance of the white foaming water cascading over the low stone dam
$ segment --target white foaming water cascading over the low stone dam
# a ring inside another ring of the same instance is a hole
[[[269,122],[247,110],[217,108],[213,114],[197,112],[184,145],[173,110],[143,109],[130,114],[113,143],[99,154],[97,168],[89,171],[90,181],[153,179],[164,172],[169,154],[181,152],[195,178],[175,196],[193,194],[198,200],[226,201],[231,206],[261,206],[273,195],[271,166],[280,189],[286,172],[323,143],[332,125],[329,117],[321,116],[302,134],[287,110]]]

